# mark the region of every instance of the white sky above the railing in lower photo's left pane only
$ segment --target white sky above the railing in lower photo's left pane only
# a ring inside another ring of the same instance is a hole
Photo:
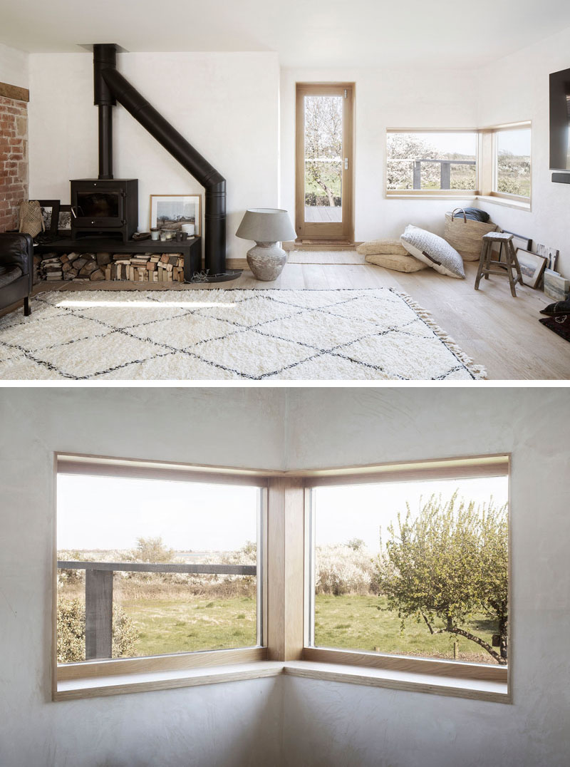
[[[162,538],[176,551],[233,551],[257,539],[258,489],[58,475],[58,549],[130,549]]]

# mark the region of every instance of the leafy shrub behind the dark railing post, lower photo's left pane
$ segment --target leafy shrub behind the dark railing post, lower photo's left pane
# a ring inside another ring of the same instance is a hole
[[[138,634],[132,619],[113,606],[112,657],[135,653]],[[58,600],[58,663],[85,660],[85,605],[79,599]]]

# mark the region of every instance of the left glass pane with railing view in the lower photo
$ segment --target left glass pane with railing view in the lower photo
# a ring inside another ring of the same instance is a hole
[[[259,497],[59,474],[58,661],[255,646]]]

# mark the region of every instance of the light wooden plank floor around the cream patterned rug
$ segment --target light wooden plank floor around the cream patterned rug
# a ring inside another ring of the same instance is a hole
[[[541,291],[517,285],[512,298],[506,278],[481,281],[473,289],[476,264],[466,264],[466,280],[438,275],[432,269],[413,274],[363,265],[288,264],[275,282],[259,282],[245,271],[232,282],[218,285],[181,285],[173,290],[201,288],[381,288],[405,291],[433,315],[463,351],[486,367],[489,379],[568,380],[570,344],[539,323],[539,310],[549,303]],[[50,288],[86,290],[163,289],[164,284],[54,282]],[[44,291],[45,283],[35,286]],[[20,310],[21,311],[21,310]],[[537,400],[537,412],[540,403]],[[532,417],[532,414],[530,414]]]

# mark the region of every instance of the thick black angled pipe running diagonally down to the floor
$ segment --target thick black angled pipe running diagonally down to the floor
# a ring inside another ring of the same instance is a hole
[[[114,45],[94,46],[94,48],[114,49]],[[206,189],[204,253],[206,269],[209,270],[209,275],[226,273],[226,179],[148,103],[122,74],[117,72],[115,62],[111,61],[110,57],[101,61],[98,72],[96,63],[95,70],[96,80],[98,74],[103,81],[99,91],[102,98],[108,103],[108,93],[111,98],[122,104],[127,112],[130,112],[134,119]],[[97,86],[95,94],[96,104],[100,104],[101,108],[101,102],[97,101]],[[101,165],[104,163],[100,160]]]

